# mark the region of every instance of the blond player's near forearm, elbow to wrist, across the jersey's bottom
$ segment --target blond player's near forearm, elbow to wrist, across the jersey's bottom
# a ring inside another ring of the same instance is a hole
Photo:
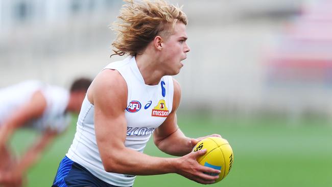
[[[153,157],[128,148],[112,150],[112,154],[102,156],[107,172],[128,175],[158,175],[176,173],[177,158]]]

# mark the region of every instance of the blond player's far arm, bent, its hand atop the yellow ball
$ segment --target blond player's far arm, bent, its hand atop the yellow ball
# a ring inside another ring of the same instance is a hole
[[[212,134],[209,136],[199,138],[188,138],[179,129],[176,118],[176,110],[180,104],[181,88],[179,83],[173,79],[174,82],[174,96],[173,96],[173,109],[167,119],[161,124],[154,132],[154,143],[163,152],[183,156],[192,151],[194,146],[209,136],[218,136],[219,134]]]

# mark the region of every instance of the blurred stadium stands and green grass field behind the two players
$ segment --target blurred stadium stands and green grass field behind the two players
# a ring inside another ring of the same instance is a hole
[[[179,125],[220,133],[234,149],[227,186],[332,186],[332,1],[172,0],[189,18],[191,52],[176,79]],[[120,0],[0,0],[0,87],[26,79],[69,86],[109,62]],[[50,186],[73,126],[28,175]],[[33,138],[13,138],[19,153]],[[22,143],[24,142],[24,143]],[[163,155],[150,142],[150,155]],[[176,176],[134,186],[199,186]]]

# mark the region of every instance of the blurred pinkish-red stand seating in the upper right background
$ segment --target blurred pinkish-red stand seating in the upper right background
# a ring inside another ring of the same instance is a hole
[[[317,1],[286,28],[268,55],[270,81],[332,83],[332,1]]]

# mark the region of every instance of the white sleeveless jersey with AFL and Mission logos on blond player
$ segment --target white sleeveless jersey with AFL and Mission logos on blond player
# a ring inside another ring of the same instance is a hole
[[[134,57],[110,63],[104,69],[116,69],[127,83],[125,146],[143,152],[155,128],[159,127],[172,111],[173,79],[171,76],[164,76],[158,85],[146,85]],[[96,143],[93,113],[94,106],[85,97],[75,138],[66,156],[109,184],[132,186],[135,176],[109,173],[104,170]],[[109,134],[109,137],[112,138],[112,134]]]

